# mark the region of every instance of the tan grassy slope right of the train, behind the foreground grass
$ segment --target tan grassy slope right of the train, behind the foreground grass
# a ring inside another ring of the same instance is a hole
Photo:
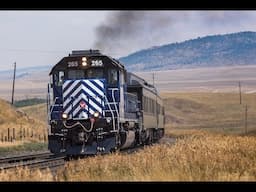
[[[224,133],[256,132],[256,94],[242,94],[240,105],[236,93],[163,93],[167,127],[170,129],[204,129]]]

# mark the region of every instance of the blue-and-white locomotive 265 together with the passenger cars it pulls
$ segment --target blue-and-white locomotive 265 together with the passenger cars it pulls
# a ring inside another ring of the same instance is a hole
[[[158,141],[164,108],[156,88],[99,50],[72,51],[50,72],[48,148],[67,156]]]

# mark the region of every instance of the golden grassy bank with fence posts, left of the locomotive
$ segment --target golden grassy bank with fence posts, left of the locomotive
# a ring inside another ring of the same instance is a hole
[[[36,116],[36,114],[38,114],[42,117],[43,111],[41,108],[41,114],[34,111],[35,116],[33,117],[33,115],[31,115],[32,113],[26,113],[28,109],[17,109],[6,101],[0,100],[0,106],[0,147],[37,142],[39,141],[39,135],[40,138],[43,139],[44,135],[47,134],[45,121],[40,120],[40,118],[38,118],[39,116]],[[6,142],[8,128],[10,135],[9,142]],[[13,134],[13,129],[15,129],[15,134]],[[13,138],[13,135],[15,138]],[[13,142],[11,142],[11,140],[13,140]]]

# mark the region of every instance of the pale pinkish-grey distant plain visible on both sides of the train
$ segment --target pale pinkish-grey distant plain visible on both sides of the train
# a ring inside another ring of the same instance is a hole
[[[136,72],[153,83],[153,72]],[[15,100],[46,98],[49,71],[36,71],[16,79]],[[256,92],[256,65],[208,67],[156,71],[155,85],[160,91],[171,92],[237,92],[241,81],[242,91]],[[12,73],[0,76],[0,98],[10,101]]]

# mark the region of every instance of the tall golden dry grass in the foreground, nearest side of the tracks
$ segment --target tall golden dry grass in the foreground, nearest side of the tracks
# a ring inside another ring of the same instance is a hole
[[[110,154],[68,162],[51,172],[17,169],[2,181],[255,181],[254,136],[193,130],[174,145],[157,144],[133,154]]]

